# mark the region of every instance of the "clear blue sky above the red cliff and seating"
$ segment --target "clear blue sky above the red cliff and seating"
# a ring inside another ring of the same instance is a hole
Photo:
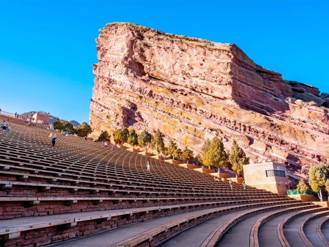
[[[0,0],[0,108],[88,121],[95,38],[118,21],[235,43],[284,79],[329,93],[328,2]]]

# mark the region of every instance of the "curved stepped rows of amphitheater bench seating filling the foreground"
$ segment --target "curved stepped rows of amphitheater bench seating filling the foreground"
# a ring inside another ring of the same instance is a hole
[[[231,189],[209,174],[77,136],[57,133],[52,147],[50,131],[10,125],[12,131],[0,131],[2,246],[91,246],[95,238],[98,246],[170,246],[169,238],[186,241],[181,234],[192,244],[181,246],[215,246],[246,219],[253,222],[244,226],[246,241],[259,246],[263,225],[272,222],[280,242],[283,225],[302,215],[301,239],[327,242],[321,232],[327,211],[318,205],[241,184]],[[304,233],[310,223],[319,239]],[[207,233],[195,234],[206,225]]]

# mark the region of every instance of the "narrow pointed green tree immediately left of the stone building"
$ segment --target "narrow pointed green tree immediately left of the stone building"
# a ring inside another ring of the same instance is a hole
[[[235,171],[236,178],[237,173],[243,172],[243,166],[249,164],[249,157],[246,156],[245,152],[237,145],[235,140],[233,140],[228,160],[231,164],[231,169]]]

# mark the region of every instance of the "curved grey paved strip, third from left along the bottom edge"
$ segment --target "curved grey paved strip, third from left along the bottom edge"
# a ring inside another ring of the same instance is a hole
[[[270,212],[273,213],[277,210],[271,210]],[[240,221],[236,225],[234,225],[217,243],[216,247],[218,246],[227,246],[227,247],[249,247],[250,242],[250,231],[253,224],[262,218],[263,216],[267,215],[269,211],[265,213],[261,213],[258,215],[251,216],[243,221]]]

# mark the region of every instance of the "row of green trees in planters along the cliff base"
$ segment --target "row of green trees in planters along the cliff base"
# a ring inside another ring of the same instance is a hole
[[[110,137],[107,131],[103,131],[99,136],[99,140],[109,140]],[[202,167],[208,166],[210,168],[214,166],[218,168],[218,172],[220,172],[220,167],[224,166],[235,171],[236,176],[238,173],[243,172],[243,165],[249,164],[249,157],[246,156],[235,140],[233,140],[231,151],[227,153],[220,138],[214,137],[211,141],[207,139],[202,147],[202,154],[194,157],[192,150],[188,149],[188,147],[181,150],[172,140],[166,147],[159,129],[153,136],[148,131],[143,131],[138,135],[134,129],[122,128],[113,133],[113,138],[115,142],[127,143],[133,147],[139,146],[144,148],[145,151],[148,151],[151,147],[157,151],[158,155],[170,155],[173,158],[180,158],[187,163],[196,159]]]

